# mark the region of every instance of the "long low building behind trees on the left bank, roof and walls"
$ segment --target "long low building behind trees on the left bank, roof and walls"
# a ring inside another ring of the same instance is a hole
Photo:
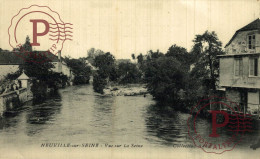
[[[46,53],[43,51],[34,51],[35,54],[43,54],[51,61],[54,65],[52,70],[54,72],[63,73],[67,75],[69,79],[73,78],[71,69],[64,62],[64,59],[61,57],[61,52],[58,53],[58,56],[52,53]],[[19,69],[19,65],[23,65],[25,60],[22,58],[23,53],[16,51],[1,51],[0,52],[0,80],[3,79],[8,73],[14,73]]]

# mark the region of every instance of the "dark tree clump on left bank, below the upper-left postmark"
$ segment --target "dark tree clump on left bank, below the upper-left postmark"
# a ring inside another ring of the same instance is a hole
[[[53,72],[54,65],[46,56],[40,55],[38,51],[32,51],[30,39],[27,36],[25,44],[20,48],[20,52],[29,52],[25,57],[23,65],[19,66],[20,73],[24,73],[31,77],[32,87],[31,91],[35,101],[44,100],[47,96],[47,88],[57,89],[63,87],[68,82],[66,75],[62,73]]]

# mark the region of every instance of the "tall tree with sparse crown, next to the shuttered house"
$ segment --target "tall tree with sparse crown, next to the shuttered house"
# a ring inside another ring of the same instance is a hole
[[[194,69],[192,75],[203,81],[203,84],[210,90],[215,91],[219,75],[218,55],[223,55],[222,43],[217,34],[206,31],[202,35],[196,35],[193,40],[192,58]]]

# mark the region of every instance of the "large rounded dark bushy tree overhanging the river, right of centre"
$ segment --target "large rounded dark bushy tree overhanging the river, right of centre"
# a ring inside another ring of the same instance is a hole
[[[184,88],[185,71],[173,57],[161,56],[147,64],[145,79],[148,91],[158,101],[178,101],[179,90]]]

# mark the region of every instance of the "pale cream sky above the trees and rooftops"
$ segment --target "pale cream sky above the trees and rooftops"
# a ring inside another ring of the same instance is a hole
[[[49,6],[73,24],[72,41],[62,56],[87,56],[90,48],[116,58],[166,53],[176,44],[191,50],[195,35],[215,31],[223,46],[236,30],[260,18],[260,0],[0,0],[0,48],[11,50],[8,27],[21,8]],[[23,24],[23,23],[22,23]],[[20,25],[20,36],[32,39],[32,23]],[[27,34],[27,35],[28,35]],[[49,45],[49,42],[45,43]]]

